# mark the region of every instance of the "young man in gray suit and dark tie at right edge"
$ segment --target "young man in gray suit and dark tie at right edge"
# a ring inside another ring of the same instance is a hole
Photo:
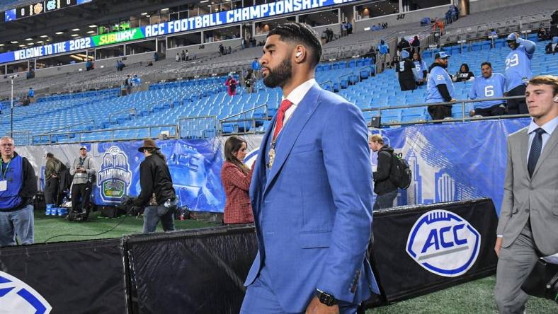
[[[496,305],[523,313],[521,284],[539,257],[558,253],[558,77],[536,76],[525,91],[529,127],[508,137],[508,167],[496,238]]]

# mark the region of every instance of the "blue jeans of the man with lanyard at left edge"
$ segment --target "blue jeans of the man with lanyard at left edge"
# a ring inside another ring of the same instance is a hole
[[[33,205],[17,211],[0,211],[0,246],[16,245],[16,236],[21,244],[33,244]]]

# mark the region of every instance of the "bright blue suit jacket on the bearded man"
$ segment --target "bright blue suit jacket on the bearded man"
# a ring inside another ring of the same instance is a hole
[[[379,293],[365,260],[372,169],[362,112],[314,84],[281,131],[266,173],[272,129],[263,136],[250,187],[259,250],[245,285],[265,263],[287,312],[304,311],[316,289],[350,303]]]

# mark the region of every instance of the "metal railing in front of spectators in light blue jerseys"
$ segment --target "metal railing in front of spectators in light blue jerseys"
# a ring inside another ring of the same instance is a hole
[[[519,96],[512,96],[512,97],[499,97],[499,98],[481,98],[481,99],[473,99],[473,100],[456,100],[452,102],[446,103],[420,103],[420,104],[411,104],[411,105],[396,105],[396,106],[389,106],[389,107],[378,107],[378,108],[368,108],[363,109],[363,112],[378,112],[377,115],[372,117],[380,117],[380,122],[382,122],[382,111],[386,110],[394,110],[394,109],[408,109],[408,108],[416,108],[416,107],[429,107],[434,105],[461,105],[461,117],[460,118],[452,118],[446,117],[443,120],[427,120],[424,119],[426,116],[423,116],[423,119],[417,119],[409,122],[394,122],[390,121],[388,123],[381,123],[382,127],[391,127],[391,126],[401,126],[401,125],[408,125],[408,124],[427,124],[427,123],[437,123],[437,122],[465,122],[465,121],[472,121],[472,120],[491,120],[491,119],[508,119],[508,118],[515,118],[515,117],[530,117],[529,115],[501,115],[501,116],[491,116],[491,117],[481,117],[478,115],[474,115],[472,117],[467,117],[469,112],[466,112],[466,104],[467,103],[478,103],[483,101],[491,101],[491,100],[509,100],[509,99],[522,99],[525,98],[523,95]],[[504,103],[504,102],[502,102]]]

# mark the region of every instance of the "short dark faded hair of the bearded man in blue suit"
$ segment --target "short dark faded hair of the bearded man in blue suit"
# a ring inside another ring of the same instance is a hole
[[[268,33],[268,36],[279,35],[284,42],[297,42],[312,50],[312,66],[316,66],[321,59],[321,42],[318,34],[305,23],[285,23],[278,25]]]

